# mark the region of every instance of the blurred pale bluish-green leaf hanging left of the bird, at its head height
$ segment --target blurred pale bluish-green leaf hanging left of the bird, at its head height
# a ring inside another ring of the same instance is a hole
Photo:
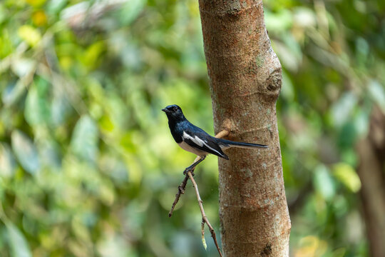
[[[82,116],[76,123],[71,138],[71,148],[86,161],[95,161],[98,151],[98,128],[89,116]]]

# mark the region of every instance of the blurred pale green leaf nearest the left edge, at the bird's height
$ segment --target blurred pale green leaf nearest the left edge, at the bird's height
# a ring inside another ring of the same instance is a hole
[[[21,166],[31,174],[39,171],[39,154],[31,139],[21,131],[13,131],[11,134],[12,149]]]

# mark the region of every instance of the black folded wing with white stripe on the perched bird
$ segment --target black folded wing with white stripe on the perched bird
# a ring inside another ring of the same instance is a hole
[[[183,141],[188,143],[190,146],[199,149],[200,151],[205,151],[207,153],[215,154],[216,156],[229,159],[217,143],[217,138],[210,136],[208,133],[202,129],[194,126],[193,124],[188,124],[188,126],[183,127],[182,134]]]

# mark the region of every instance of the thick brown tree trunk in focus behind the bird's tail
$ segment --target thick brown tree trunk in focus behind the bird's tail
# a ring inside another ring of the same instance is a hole
[[[282,81],[260,0],[200,0],[215,133],[269,149],[232,148],[219,160],[225,256],[289,256],[275,104]]]

